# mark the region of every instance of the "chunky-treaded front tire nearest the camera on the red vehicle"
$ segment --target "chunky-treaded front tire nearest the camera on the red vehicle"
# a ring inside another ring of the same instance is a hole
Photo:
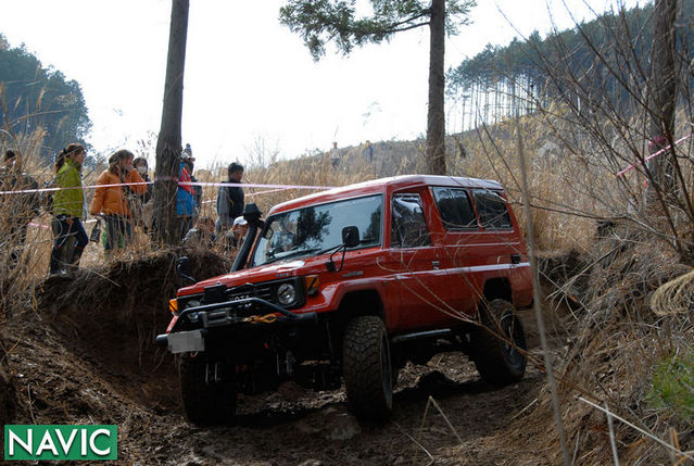
[[[375,316],[352,319],[344,330],[342,365],[348,407],[361,419],[378,420],[393,408],[388,332]]]

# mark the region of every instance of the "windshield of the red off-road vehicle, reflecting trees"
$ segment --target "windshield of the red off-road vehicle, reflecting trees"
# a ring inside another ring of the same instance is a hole
[[[382,204],[379,194],[273,215],[257,241],[252,264],[258,266],[332,251],[342,244],[342,228],[348,226],[359,230],[356,248],[379,245]]]

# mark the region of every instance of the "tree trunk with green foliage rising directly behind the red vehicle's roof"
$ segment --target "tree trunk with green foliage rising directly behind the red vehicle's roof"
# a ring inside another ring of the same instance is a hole
[[[429,112],[427,115],[427,173],[445,175],[444,52],[445,0],[431,1],[429,48]]]

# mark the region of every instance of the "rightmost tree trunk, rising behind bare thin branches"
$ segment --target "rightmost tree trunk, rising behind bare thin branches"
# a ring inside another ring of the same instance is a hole
[[[653,17],[653,49],[651,52],[651,124],[648,152],[655,153],[672,143],[677,72],[674,68],[677,30],[677,0],[657,0]],[[674,152],[667,151],[649,161],[651,182],[646,203],[653,205],[656,191],[673,196],[677,190]]]

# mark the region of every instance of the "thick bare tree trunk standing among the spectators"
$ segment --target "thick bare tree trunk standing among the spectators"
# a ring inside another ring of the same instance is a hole
[[[180,225],[176,217],[176,190],[181,152],[181,116],[184,111],[184,70],[188,35],[189,0],[172,1],[172,22],[168,36],[166,81],[162,127],[156,141],[156,173],[154,175],[154,228],[159,239],[167,244],[180,240]]]

